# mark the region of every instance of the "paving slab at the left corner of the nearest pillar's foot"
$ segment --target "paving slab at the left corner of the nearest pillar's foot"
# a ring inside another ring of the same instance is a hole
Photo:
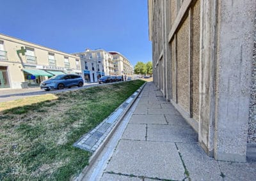
[[[207,156],[198,144],[177,143],[191,180],[223,180],[218,162]]]

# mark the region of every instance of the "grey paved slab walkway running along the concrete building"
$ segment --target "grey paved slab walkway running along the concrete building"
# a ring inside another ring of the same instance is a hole
[[[256,163],[208,157],[154,83],[145,85],[139,99],[100,180],[255,180]]]

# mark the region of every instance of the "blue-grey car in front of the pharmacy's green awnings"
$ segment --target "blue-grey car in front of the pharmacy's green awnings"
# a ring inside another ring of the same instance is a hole
[[[65,87],[78,86],[82,87],[84,85],[83,78],[80,75],[66,74],[66,75],[55,75],[44,80],[40,83],[40,88],[45,91],[50,91],[51,89],[64,89]]]

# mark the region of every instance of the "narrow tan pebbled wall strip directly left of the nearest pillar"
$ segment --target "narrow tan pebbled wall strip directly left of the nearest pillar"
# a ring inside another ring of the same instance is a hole
[[[193,6],[193,119],[199,114],[200,0]]]

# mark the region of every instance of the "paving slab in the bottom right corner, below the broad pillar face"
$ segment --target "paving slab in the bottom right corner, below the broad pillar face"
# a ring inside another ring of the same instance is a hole
[[[226,180],[256,180],[256,163],[231,163],[219,161]]]

